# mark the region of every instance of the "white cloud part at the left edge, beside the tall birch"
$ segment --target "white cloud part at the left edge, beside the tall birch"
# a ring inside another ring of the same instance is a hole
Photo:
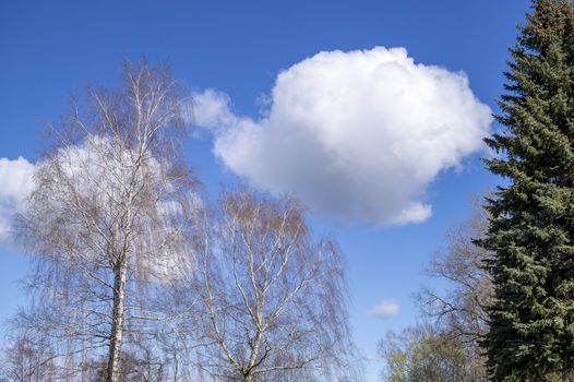
[[[10,242],[14,216],[33,190],[33,174],[34,165],[23,157],[0,158],[0,243]]]

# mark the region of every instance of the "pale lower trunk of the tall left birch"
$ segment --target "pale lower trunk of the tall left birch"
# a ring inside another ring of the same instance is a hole
[[[123,336],[125,276],[128,266],[121,263],[113,279],[113,315],[109,342],[109,358],[106,382],[120,381],[121,342]]]

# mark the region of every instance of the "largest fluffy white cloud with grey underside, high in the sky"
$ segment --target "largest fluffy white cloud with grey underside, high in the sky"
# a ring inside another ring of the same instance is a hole
[[[491,122],[464,73],[403,48],[320,52],[279,73],[259,118],[230,105],[213,89],[193,104],[225,166],[315,212],[379,226],[427,219],[428,184],[480,150]]]

